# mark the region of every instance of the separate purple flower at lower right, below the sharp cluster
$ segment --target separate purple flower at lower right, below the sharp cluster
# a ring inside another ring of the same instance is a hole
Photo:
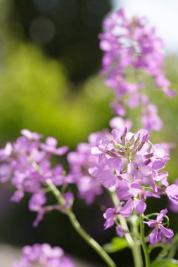
[[[174,235],[173,231],[163,226],[163,219],[167,212],[167,209],[163,209],[155,220],[151,219],[150,221],[143,221],[149,227],[154,228],[149,235],[149,241],[152,246],[155,246],[158,242],[172,242],[172,237]]]

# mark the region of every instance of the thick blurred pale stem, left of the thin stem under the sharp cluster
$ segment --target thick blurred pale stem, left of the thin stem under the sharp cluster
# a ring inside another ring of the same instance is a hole
[[[110,192],[110,197],[113,200],[113,204],[115,207],[119,204],[118,197],[115,193]],[[127,230],[129,232],[129,227],[127,226],[127,221],[125,220],[125,217],[123,216],[118,216],[118,219],[120,221],[120,226],[122,226],[123,229]],[[136,234],[136,226],[134,226],[135,231],[134,235]],[[127,240],[127,243],[129,245],[129,248],[132,250],[132,256],[134,259],[134,266],[135,267],[142,267],[143,262],[142,262],[142,257],[141,257],[141,249],[140,245],[137,244],[136,240],[132,238],[132,235],[130,233],[125,233],[125,239]]]

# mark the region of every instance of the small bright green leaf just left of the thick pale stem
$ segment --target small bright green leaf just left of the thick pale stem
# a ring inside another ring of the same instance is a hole
[[[128,247],[127,241],[121,237],[114,237],[111,243],[103,245],[103,249],[108,253],[118,252],[126,247]]]

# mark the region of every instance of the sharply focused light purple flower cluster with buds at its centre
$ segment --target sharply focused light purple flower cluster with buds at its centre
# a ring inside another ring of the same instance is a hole
[[[153,145],[149,141],[145,129],[136,133],[127,132],[126,128],[113,129],[110,136],[101,138],[98,146],[91,148],[91,153],[98,156],[98,162],[92,164],[89,173],[98,178],[105,188],[117,193],[117,207],[107,209],[103,215],[105,228],[116,223],[117,234],[122,236],[125,229],[117,223],[118,215],[127,218],[134,210],[137,214],[144,214],[147,197],[167,195],[178,205],[178,185],[169,185],[168,173],[163,171],[169,154],[164,145]],[[154,226],[161,225],[163,218],[158,217],[160,221],[155,221]],[[156,240],[165,240],[163,227],[160,226],[160,229],[161,238]]]

